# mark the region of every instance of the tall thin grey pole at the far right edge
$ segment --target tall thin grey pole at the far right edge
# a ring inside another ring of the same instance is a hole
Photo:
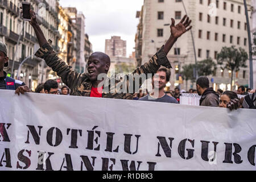
[[[254,88],[253,86],[253,49],[251,48],[251,30],[250,30],[250,20],[247,10],[246,0],[243,0],[243,4],[245,5],[245,15],[247,22],[247,32],[248,32],[248,40],[249,40],[249,61],[250,61],[250,88]]]

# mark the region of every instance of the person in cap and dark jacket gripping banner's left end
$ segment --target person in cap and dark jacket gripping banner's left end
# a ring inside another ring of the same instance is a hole
[[[24,94],[24,92],[30,92],[30,89],[24,84],[24,82],[15,80],[8,77],[7,73],[3,71],[4,67],[9,66],[9,57],[7,56],[6,44],[0,41],[0,90],[16,90],[16,94]]]

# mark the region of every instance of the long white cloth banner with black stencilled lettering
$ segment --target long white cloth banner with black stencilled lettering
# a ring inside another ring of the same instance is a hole
[[[0,170],[255,170],[255,110],[0,91]]]

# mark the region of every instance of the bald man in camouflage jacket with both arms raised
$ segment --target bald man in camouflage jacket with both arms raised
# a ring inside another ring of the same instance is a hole
[[[110,58],[108,55],[102,52],[93,53],[88,60],[88,73],[77,73],[73,71],[71,67],[65,64],[59,57],[57,57],[57,53],[53,51],[52,47],[47,43],[44,34],[39,27],[38,22],[36,22],[36,15],[33,10],[30,10],[31,21],[30,24],[35,30],[35,34],[38,38],[40,49],[36,52],[37,57],[41,57],[46,61],[46,64],[52,68],[53,71],[57,73],[58,76],[61,77],[64,84],[66,84],[71,89],[72,96],[92,96],[92,89],[99,88],[98,85],[101,84],[103,80],[97,80],[98,75],[101,73],[107,74],[110,67]],[[167,54],[170,51],[171,47],[176,42],[177,38],[183,35],[185,32],[189,31],[192,27],[189,26],[191,24],[191,20],[184,16],[179,24],[175,26],[175,20],[172,19],[171,24],[171,36],[168,39],[167,43],[159,49],[158,52],[148,61],[146,64],[142,65],[140,68],[135,69],[135,71],[131,74],[137,73],[138,75],[144,74],[155,74],[156,71],[160,68],[160,66],[164,66],[167,68],[171,68],[170,61],[167,59]],[[129,75],[126,76],[127,78]],[[128,80],[128,79],[127,79]],[[108,89],[109,92],[105,92],[104,86],[103,90],[100,94],[100,97],[103,98],[118,98],[118,99],[132,99],[133,93],[138,90],[129,90],[129,92],[120,93],[117,89],[117,85],[123,85],[121,82],[126,81],[126,79],[121,79],[119,81],[115,80],[115,84],[111,85],[109,82]],[[130,83],[127,81],[127,89]],[[139,82],[139,86],[143,84],[143,81]],[[122,86],[120,89],[123,89]]]

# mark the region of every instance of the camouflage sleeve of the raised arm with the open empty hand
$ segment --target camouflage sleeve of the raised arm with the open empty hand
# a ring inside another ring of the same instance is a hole
[[[129,76],[133,76],[133,82],[129,82],[129,79],[127,79],[127,89],[129,89],[129,86],[133,84],[133,93],[138,92],[138,87],[136,87],[136,84],[138,84],[139,79],[139,87],[143,84],[143,82],[148,79],[148,74],[151,76],[154,76],[154,74],[158,71],[158,69],[163,66],[166,68],[172,68],[170,61],[168,60],[166,53],[164,52],[162,46],[158,52],[145,64],[143,64],[141,67],[135,69],[135,71]],[[143,74],[144,73],[144,74]],[[144,77],[142,76],[144,75]],[[136,76],[137,75],[137,76]],[[139,78],[138,78],[139,76]],[[130,90],[130,89],[129,89]],[[130,92],[129,92],[130,93]]]

